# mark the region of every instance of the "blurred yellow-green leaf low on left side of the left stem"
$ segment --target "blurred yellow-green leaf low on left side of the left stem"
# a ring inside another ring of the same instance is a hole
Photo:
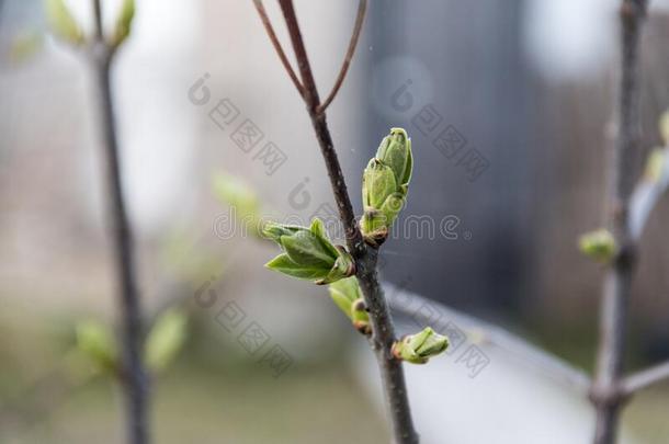
[[[76,327],[77,349],[99,371],[113,372],[117,367],[118,351],[110,329],[95,320],[81,321]]]

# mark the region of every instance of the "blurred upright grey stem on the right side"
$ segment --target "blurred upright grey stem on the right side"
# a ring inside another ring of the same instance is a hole
[[[597,410],[594,444],[613,444],[624,397],[623,369],[627,305],[634,271],[635,241],[630,230],[630,201],[639,143],[639,31],[645,0],[623,0],[621,18],[621,79],[617,101],[617,137],[611,163],[609,225],[619,253],[606,271],[600,311],[600,344],[590,399]]]

